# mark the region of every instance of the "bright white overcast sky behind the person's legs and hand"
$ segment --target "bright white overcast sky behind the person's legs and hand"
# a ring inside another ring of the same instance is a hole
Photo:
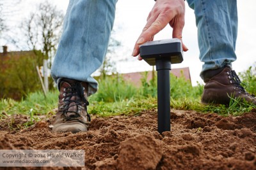
[[[26,18],[30,11],[35,9],[35,5],[44,0],[22,0],[22,3],[17,6],[17,9],[22,11],[22,15],[17,14],[10,20]],[[60,10],[67,10],[68,0],[51,0]],[[154,6],[153,0],[118,0],[116,4],[116,18],[114,24],[115,39],[120,41],[122,46],[116,49],[116,69],[119,73],[131,73],[137,71],[150,71],[152,66],[136,57],[131,57],[134,43],[138,39],[141,30],[146,24],[147,16]],[[199,74],[202,68],[202,62],[198,59],[198,41],[195,25],[195,15],[193,10],[186,4],[185,27],[182,34],[182,39],[185,45],[189,48],[188,52],[184,52],[184,61],[181,64],[172,64],[172,68],[189,67],[191,74],[192,85],[196,85],[196,81],[203,83]],[[249,66],[255,64],[256,54],[256,22],[255,22],[255,0],[238,0],[238,36],[236,45],[237,60],[233,63],[233,69],[236,72],[242,72],[248,69]],[[254,20],[254,22],[253,22]],[[125,35],[125,36],[124,36]],[[161,32],[155,36],[155,40],[172,38],[172,29],[167,25]],[[0,41],[1,43],[1,41]],[[12,45],[8,45],[12,46]],[[15,50],[10,48],[10,50]]]

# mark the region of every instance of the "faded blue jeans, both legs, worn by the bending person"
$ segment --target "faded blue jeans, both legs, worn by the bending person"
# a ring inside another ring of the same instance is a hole
[[[91,74],[104,61],[115,19],[117,0],[70,0],[63,34],[52,63],[56,83],[61,78],[88,82],[88,95],[97,90]],[[236,0],[187,0],[195,10],[202,72],[236,60]],[[200,76],[204,79],[203,74]]]

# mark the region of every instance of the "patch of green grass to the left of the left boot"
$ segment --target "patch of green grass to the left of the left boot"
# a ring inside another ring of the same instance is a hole
[[[57,108],[58,91],[52,91],[44,96],[42,92],[31,93],[26,99],[14,101],[13,99],[1,99],[0,101],[0,120],[8,118],[8,129],[25,129],[30,127],[41,118],[48,118],[54,115],[54,108]],[[8,117],[11,115],[12,117]],[[29,119],[22,124],[15,123],[14,115],[27,115]]]

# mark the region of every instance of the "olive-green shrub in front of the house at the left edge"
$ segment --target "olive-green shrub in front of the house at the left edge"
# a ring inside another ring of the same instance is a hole
[[[29,92],[40,90],[36,57],[8,56],[0,68],[0,97],[19,100]]]

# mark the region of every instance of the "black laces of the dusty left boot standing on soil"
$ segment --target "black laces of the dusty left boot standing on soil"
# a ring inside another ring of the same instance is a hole
[[[66,120],[71,120],[72,118],[81,117],[80,113],[78,112],[80,107],[84,107],[87,113],[88,121],[91,121],[91,117],[87,112],[87,107],[89,105],[89,102],[85,99],[83,95],[83,87],[81,88],[79,84],[76,84],[72,87],[67,87],[64,89],[63,93],[64,98],[62,99],[64,101],[63,106],[61,107],[61,112],[65,115]],[[74,97],[74,99],[71,99]],[[76,106],[76,111],[69,110],[73,106]],[[68,117],[67,113],[75,113],[76,115],[73,115],[72,117]]]

